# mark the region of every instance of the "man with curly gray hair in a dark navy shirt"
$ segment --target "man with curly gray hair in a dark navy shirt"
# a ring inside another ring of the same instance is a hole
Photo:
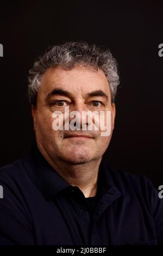
[[[53,46],[34,63],[29,99],[36,140],[29,156],[1,168],[1,245],[163,243],[163,202],[151,181],[112,170],[102,159],[118,84],[110,51],[86,42]],[[67,124],[65,109],[68,124],[73,111],[79,114],[73,129],[54,125],[57,115]],[[96,129],[101,113],[104,124],[110,113],[105,136]],[[92,130],[82,129],[90,123]]]

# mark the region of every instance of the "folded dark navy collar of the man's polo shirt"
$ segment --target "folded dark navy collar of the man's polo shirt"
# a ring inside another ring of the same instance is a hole
[[[30,178],[46,200],[51,200],[58,192],[72,187],[42,156],[35,140],[32,143],[30,155],[23,158],[23,163]],[[99,166],[97,193],[101,196],[107,191],[113,194],[120,193],[112,179],[109,167],[102,159]]]

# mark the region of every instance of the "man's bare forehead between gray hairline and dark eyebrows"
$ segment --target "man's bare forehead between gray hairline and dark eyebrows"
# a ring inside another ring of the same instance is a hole
[[[71,70],[64,70],[59,66],[49,69],[43,74],[39,93],[47,95],[54,88],[60,87],[68,92],[79,95],[87,94],[93,90],[103,90],[110,95],[109,83],[104,72],[81,65]]]

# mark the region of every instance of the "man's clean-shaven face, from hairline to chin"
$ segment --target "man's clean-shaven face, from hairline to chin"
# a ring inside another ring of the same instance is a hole
[[[65,107],[69,107],[70,113],[78,111],[81,117],[83,111],[111,111],[110,135],[101,136],[101,131],[95,129],[54,130],[52,114],[54,111],[64,114]],[[60,67],[47,70],[42,76],[37,107],[32,107],[32,113],[37,145],[53,161],[58,159],[81,164],[98,160],[108,148],[114,129],[115,105],[111,105],[109,84],[102,70],[96,71],[80,65],[72,70]]]

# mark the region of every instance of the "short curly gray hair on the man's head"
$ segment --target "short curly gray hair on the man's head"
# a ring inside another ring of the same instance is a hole
[[[84,41],[54,45],[34,62],[28,76],[29,102],[36,106],[41,77],[46,70],[57,66],[65,70],[71,70],[76,64],[82,64],[96,70],[101,69],[109,82],[111,102],[115,101],[117,86],[120,84],[116,59],[112,57],[108,48],[95,44],[90,45]]]

